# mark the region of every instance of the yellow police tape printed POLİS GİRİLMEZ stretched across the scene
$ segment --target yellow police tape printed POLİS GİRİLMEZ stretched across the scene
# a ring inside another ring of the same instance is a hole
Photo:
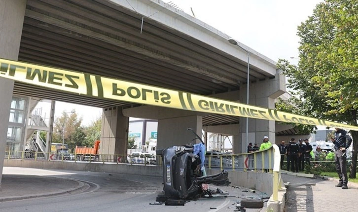
[[[357,126],[294,115],[272,109],[131,83],[75,71],[0,59],[0,76],[15,81],[99,98],[205,113],[358,130]]]

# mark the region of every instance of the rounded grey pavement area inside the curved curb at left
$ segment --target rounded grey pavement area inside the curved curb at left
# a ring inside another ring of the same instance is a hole
[[[0,187],[0,202],[46,197],[75,192],[85,184],[54,176],[19,175],[4,168]]]

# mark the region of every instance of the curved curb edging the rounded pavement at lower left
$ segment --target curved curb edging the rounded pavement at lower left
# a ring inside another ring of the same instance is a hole
[[[60,179],[66,179],[66,180],[76,181],[76,182],[78,183],[78,186],[76,186],[76,187],[74,187],[74,188],[71,188],[71,189],[67,189],[67,190],[63,190],[63,191],[58,191],[58,192],[47,192],[47,193],[21,195],[21,196],[0,197],[0,202],[8,202],[8,201],[32,199],[32,198],[39,198],[39,197],[56,196],[56,195],[61,195],[61,194],[66,194],[66,193],[71,193],[71,192],[76,192],[76,191],[78,191],[78,190],[81,190],[83,187],[85,187],[85,183],[83,183],[83,182],[81,182],[81,181],[79,181],[79,180],[75,180],[75,179],[71,179],[71,178],[66,178],[66,177],[51,177],[51,178],[60,178]]]

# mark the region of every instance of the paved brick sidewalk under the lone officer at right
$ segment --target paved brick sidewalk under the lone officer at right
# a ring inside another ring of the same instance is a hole
[[[358,184],[349,183],[343,190],[334,185],[337,180],[313,179],[281,174],[289,182],[286,193],[286,212],[356,212]],[[302,185],[301,183],[316,183]],[[301,186],[296,186],[296,185]]]

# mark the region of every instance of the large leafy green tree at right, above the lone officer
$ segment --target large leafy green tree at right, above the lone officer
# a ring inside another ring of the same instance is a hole
[[[358,1],[326,0],[298,26],[298,67],[279,60],[300,114],[357,126]],[[356,177],[358,131],[353,136],[351,178]]]

